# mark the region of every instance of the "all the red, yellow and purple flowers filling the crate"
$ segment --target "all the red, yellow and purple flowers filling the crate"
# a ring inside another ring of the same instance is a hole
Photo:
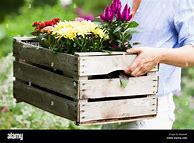
[[[55,52],[102,52],[125,51],[131,43],[138,23],[131,21],[128,4],[122,9],[120,0],[113,0],[99,16],[100,21],[77,18],[61,21],[54,18],[45,22],[34,22],[33,35],[41,46]]]

